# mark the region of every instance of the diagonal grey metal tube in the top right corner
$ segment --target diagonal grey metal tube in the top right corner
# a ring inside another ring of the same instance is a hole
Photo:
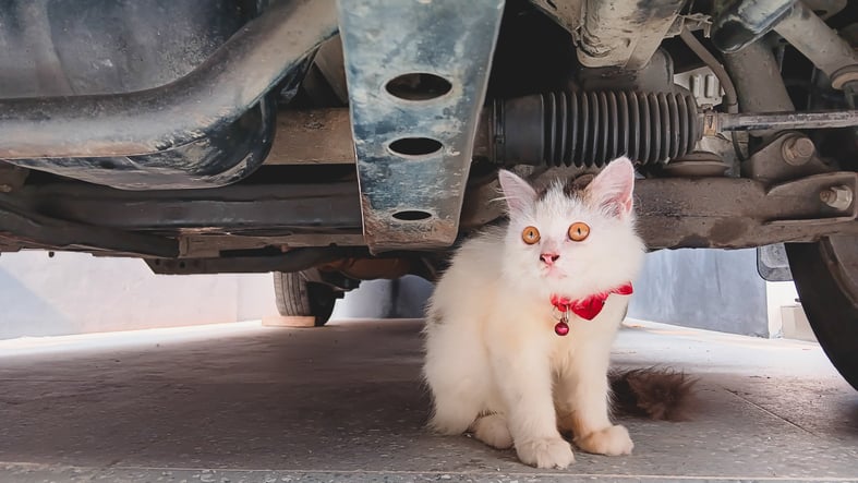
[[[858,81],[858,53],[800,1],[774,29],[824,72],[832,87]]]

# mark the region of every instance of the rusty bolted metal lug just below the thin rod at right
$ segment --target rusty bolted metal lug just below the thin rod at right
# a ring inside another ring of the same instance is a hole
[[[832,170],[815,156],[813,142],[799,132],[781,133],[741,165],[746,177],[768,183]]]

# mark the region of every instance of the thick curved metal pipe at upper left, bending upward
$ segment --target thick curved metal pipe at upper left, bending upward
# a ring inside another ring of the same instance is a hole
[[[188,75],[123,94],[0,100],[0,158],[156,153],[237,120],[337,31],[334,0],[275,4]]]

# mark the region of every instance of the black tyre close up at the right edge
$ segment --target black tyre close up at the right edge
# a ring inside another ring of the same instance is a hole
[[[817,340],[858,389],[858,237],[790,243],[786,253]]]

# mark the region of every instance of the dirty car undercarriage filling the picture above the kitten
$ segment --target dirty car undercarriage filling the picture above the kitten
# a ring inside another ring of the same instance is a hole
[[[12,0],[0,41],[2,252],[327,300],[434,279],[500,168],[628,156],[649,249],[758,247],[858,387],[858,2]]]

